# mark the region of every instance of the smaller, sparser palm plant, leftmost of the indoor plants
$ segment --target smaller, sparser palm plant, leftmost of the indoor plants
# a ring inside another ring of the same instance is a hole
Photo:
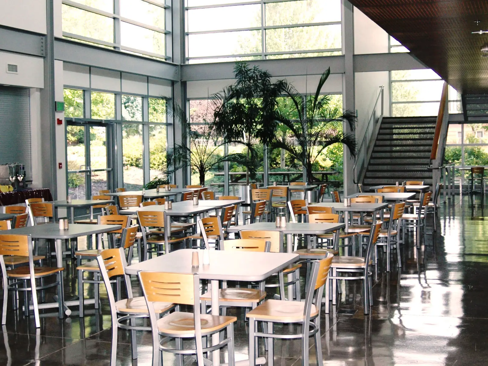
[[[256,175],[256,151],[252,145],[247,146],[249,157],[240,153],[221,155],[219,149],[225,142],[218,137],[213,120],[204,118],[203,124],[198,125],[197,130],[192,130],[185,111],[176,102],[168,103],[168,115],[179,120],[183,130],[182,142],[175,143],[173,148],[168,149],[168,174],[189,166],[198,172],[199,184],[205,185],[205,174],[210,169],[224,162],[233,162],[246,167],[253,177]]]

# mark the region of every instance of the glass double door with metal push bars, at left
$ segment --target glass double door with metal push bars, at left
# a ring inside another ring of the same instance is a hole
[[[68,195],[88,200],[109,189],[112,169],[107,160],[107,127],[73,122],[67,126],[66,140]]]

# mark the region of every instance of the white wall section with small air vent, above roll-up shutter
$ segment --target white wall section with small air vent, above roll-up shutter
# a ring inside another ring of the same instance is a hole
[[[18,74],[7,73],[7,63],[17,65]],[[0,52],[0,84],[43,88],[44,59],[11,52]]]

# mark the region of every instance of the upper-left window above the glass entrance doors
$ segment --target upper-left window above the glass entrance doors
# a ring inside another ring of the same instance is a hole
[[[120,11],[115,9],[119,9]],[[63,37],[128,53],[168,59],[164,0],[75,0],[62,4]],[[120,22],[115,22],[120,19]],[[120,24],[120,26],[119,26]]]

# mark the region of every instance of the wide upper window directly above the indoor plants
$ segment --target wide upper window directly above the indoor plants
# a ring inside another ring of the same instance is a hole
[[[188,2],[189,62],[341,55],[340,0],[233,2]]]

